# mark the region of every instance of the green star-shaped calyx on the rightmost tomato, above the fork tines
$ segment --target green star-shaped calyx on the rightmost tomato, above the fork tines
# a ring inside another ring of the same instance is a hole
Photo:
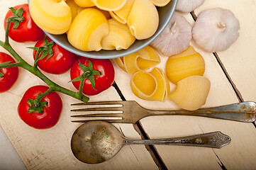
[[[101,76],[101,72],[94,69],[94,66],[93,66],[91,60],[89,60],[89,59],[87,59],[87,60],[89,61],[88,67],[79,61],[78,65],[82,69],[82,71],[84,71],[84,73],[81,74],[79,77],[72,79],[71,81],[82,81],[83,82],[85,79],[89,79],[89,81],[91,82],[91,86],[94,89],[94,87],[95,87],[94,76],[98,75],[97,78],[99,78]],[[82,86],[82,85],[80,85],[80,86]],[[94,89],[94,90],[96,90],[96,89]]]

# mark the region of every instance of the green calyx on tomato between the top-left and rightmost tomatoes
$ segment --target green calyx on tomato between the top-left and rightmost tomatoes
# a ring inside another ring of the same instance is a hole
[[[54,41],[49,42],[49,40],[47,39],[47,36],[45,36],[45,39],[43,40],[43,46],[29,47],[30,49],[37,51],[38,56],[40,53],[42,53],[42,55],[38,59],[35,59],[35,63],[38,62],[39,60],[43,60],[46,56],[48,56],[46,60],[50,59],[50,57],[52,57],[53,55],[53,50],[52,50],[53,45],[55,45],[55,42]]]

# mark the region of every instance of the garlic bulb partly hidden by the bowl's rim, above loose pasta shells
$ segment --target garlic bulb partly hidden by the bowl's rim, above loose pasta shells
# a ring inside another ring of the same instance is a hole
[[[191,38],[190,23],[175,12],[165,30],[150,45],[163,55],[177,55],[187,50]]]

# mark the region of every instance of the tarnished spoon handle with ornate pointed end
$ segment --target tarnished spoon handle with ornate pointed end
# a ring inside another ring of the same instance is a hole
[[[228,145],[231,141],[228,135],[222,132],[209,132],[201,135],[193,135],[188,137],[175,137],[169,139],[157,140],[131,140],[123,137],[127,145],[180,145],[180,146],[194,146],[194,147],[211,147],[221,148]]]

